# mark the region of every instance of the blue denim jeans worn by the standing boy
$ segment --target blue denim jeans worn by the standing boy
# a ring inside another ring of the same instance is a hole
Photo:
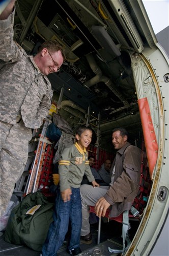
[[[49,226],[46,241],[42,248],[43,256],[56,256],[62,246],[66,233],[71,224],[68,249],[79,247],[81,231],[81,198],[80,189],[71,188],[71,200],[64,203],[58,189],[53,212],[53,222]],[[42,223],[43,225],[43,223]]]

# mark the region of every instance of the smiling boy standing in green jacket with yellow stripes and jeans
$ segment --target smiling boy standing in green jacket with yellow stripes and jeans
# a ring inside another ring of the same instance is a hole
[[[70,255],[81,252],[81,198],[80,183],[85,174],[93,186],[99,186],[95,181],[88,160],[86,148],[92,141],[92,130],[80,126],[76,131],[74,145],[64,149],[59,161],[60,191],[57,193],[53,213],[53,222],[50,224],[46,241],[42,248],[43,256],[56,256],[62,246],[71,223],[68,251]]]

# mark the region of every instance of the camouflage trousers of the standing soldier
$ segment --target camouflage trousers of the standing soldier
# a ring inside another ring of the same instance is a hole
[[[0,121],[0,209],[5,214],[15,183],[23,173],[32,138],[30,128],[23,121],[14,125]]]

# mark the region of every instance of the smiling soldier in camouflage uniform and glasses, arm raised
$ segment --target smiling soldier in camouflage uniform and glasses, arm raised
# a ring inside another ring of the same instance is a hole
[[[24,170],[31,129],[42,125],[51,106],[47,75],[59,71],[64,60],[62,48],[53,41],[44,42],[34,57],[13,41],[14,4],[11,0],[0,15],[1,215]]]

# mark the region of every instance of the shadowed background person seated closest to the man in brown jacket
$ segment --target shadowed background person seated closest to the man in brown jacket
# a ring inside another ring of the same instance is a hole
[[[110,176],[111,160],[106,159],[102,164],[101,168],[98,170],[98,174],[101,178],[101,181],[97,181],[101,186],[108,186],[111,181]]]

